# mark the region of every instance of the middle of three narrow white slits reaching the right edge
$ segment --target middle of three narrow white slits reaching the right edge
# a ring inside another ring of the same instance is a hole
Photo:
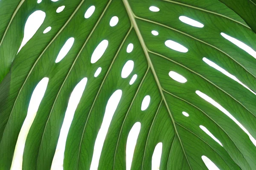
[[[220,66],[218,66],[217,64],[215,64],[214,62],[212,62],[211,60],[207,59],[206,57],[203,58],[203,61],[205,63],[207,63],[209,66],[215,68],[216,70],[220,71],[221,73],[225,74],[227,77],[230,77],[231,79],[235,80],[236,82],[238,82],[240,85],[244,86],[245,88],[247,88],[250,92],[252,92],[253,94],[256,95],[256,93],[254,91],[252,91],[250,88],[248,88],[246,85],[244,85],[239,79],[237,79],[234,75],[230,74],[229,72],[227,72],[226,70],[224,70],[223,68],[221,68]]]

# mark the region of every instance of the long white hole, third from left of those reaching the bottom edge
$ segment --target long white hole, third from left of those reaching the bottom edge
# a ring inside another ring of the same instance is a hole
[[[108,133],[108,128],[113,118],[113,115],[116,111],[116,108],[120,102],[121,97],[122,97],[122,90],[116,90],[108,99],[102,125],[99,129],[99,133],[97,135],[97,138],[94,144],[93,159],[90,165],[90,170],[97,170],[99,166],[99,158],[102,152],[102,147],[103,147],[106,135]]]

